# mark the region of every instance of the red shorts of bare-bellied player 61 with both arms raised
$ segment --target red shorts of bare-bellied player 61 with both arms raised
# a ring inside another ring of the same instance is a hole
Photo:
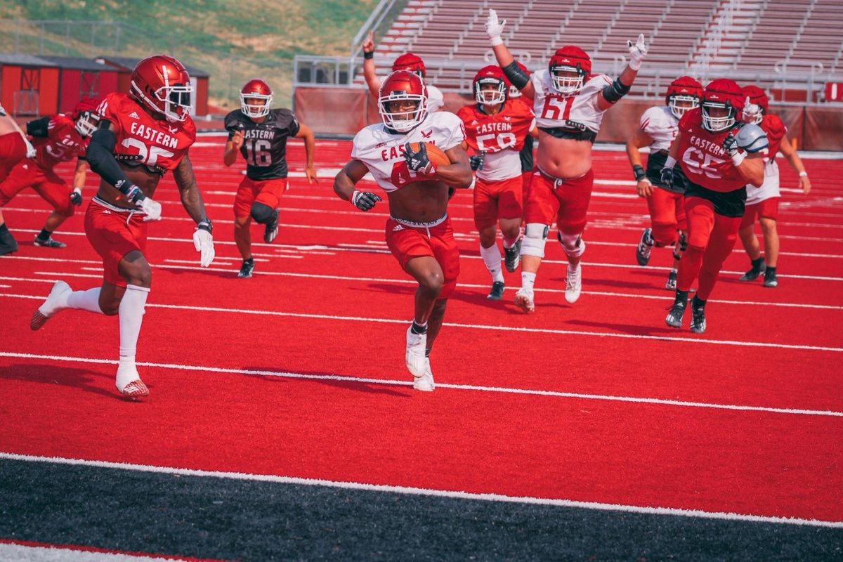
[[[572,179],[551,178],[537,171],[529,186],[524,222],[552,225],[556,218],[556,227],[561,232],[582,234],[593,185],[594,172],[590,169]]]

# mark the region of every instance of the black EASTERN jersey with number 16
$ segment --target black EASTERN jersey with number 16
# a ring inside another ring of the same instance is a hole
[[[246,159],[249,179],[277,179],[287,177],[287,137],[298,133],[298,120],[290,110],[270,110],[266,120],[255,123],[241,110],[225,116],[228,140],[236,131],[244,131],[240,153]]]

